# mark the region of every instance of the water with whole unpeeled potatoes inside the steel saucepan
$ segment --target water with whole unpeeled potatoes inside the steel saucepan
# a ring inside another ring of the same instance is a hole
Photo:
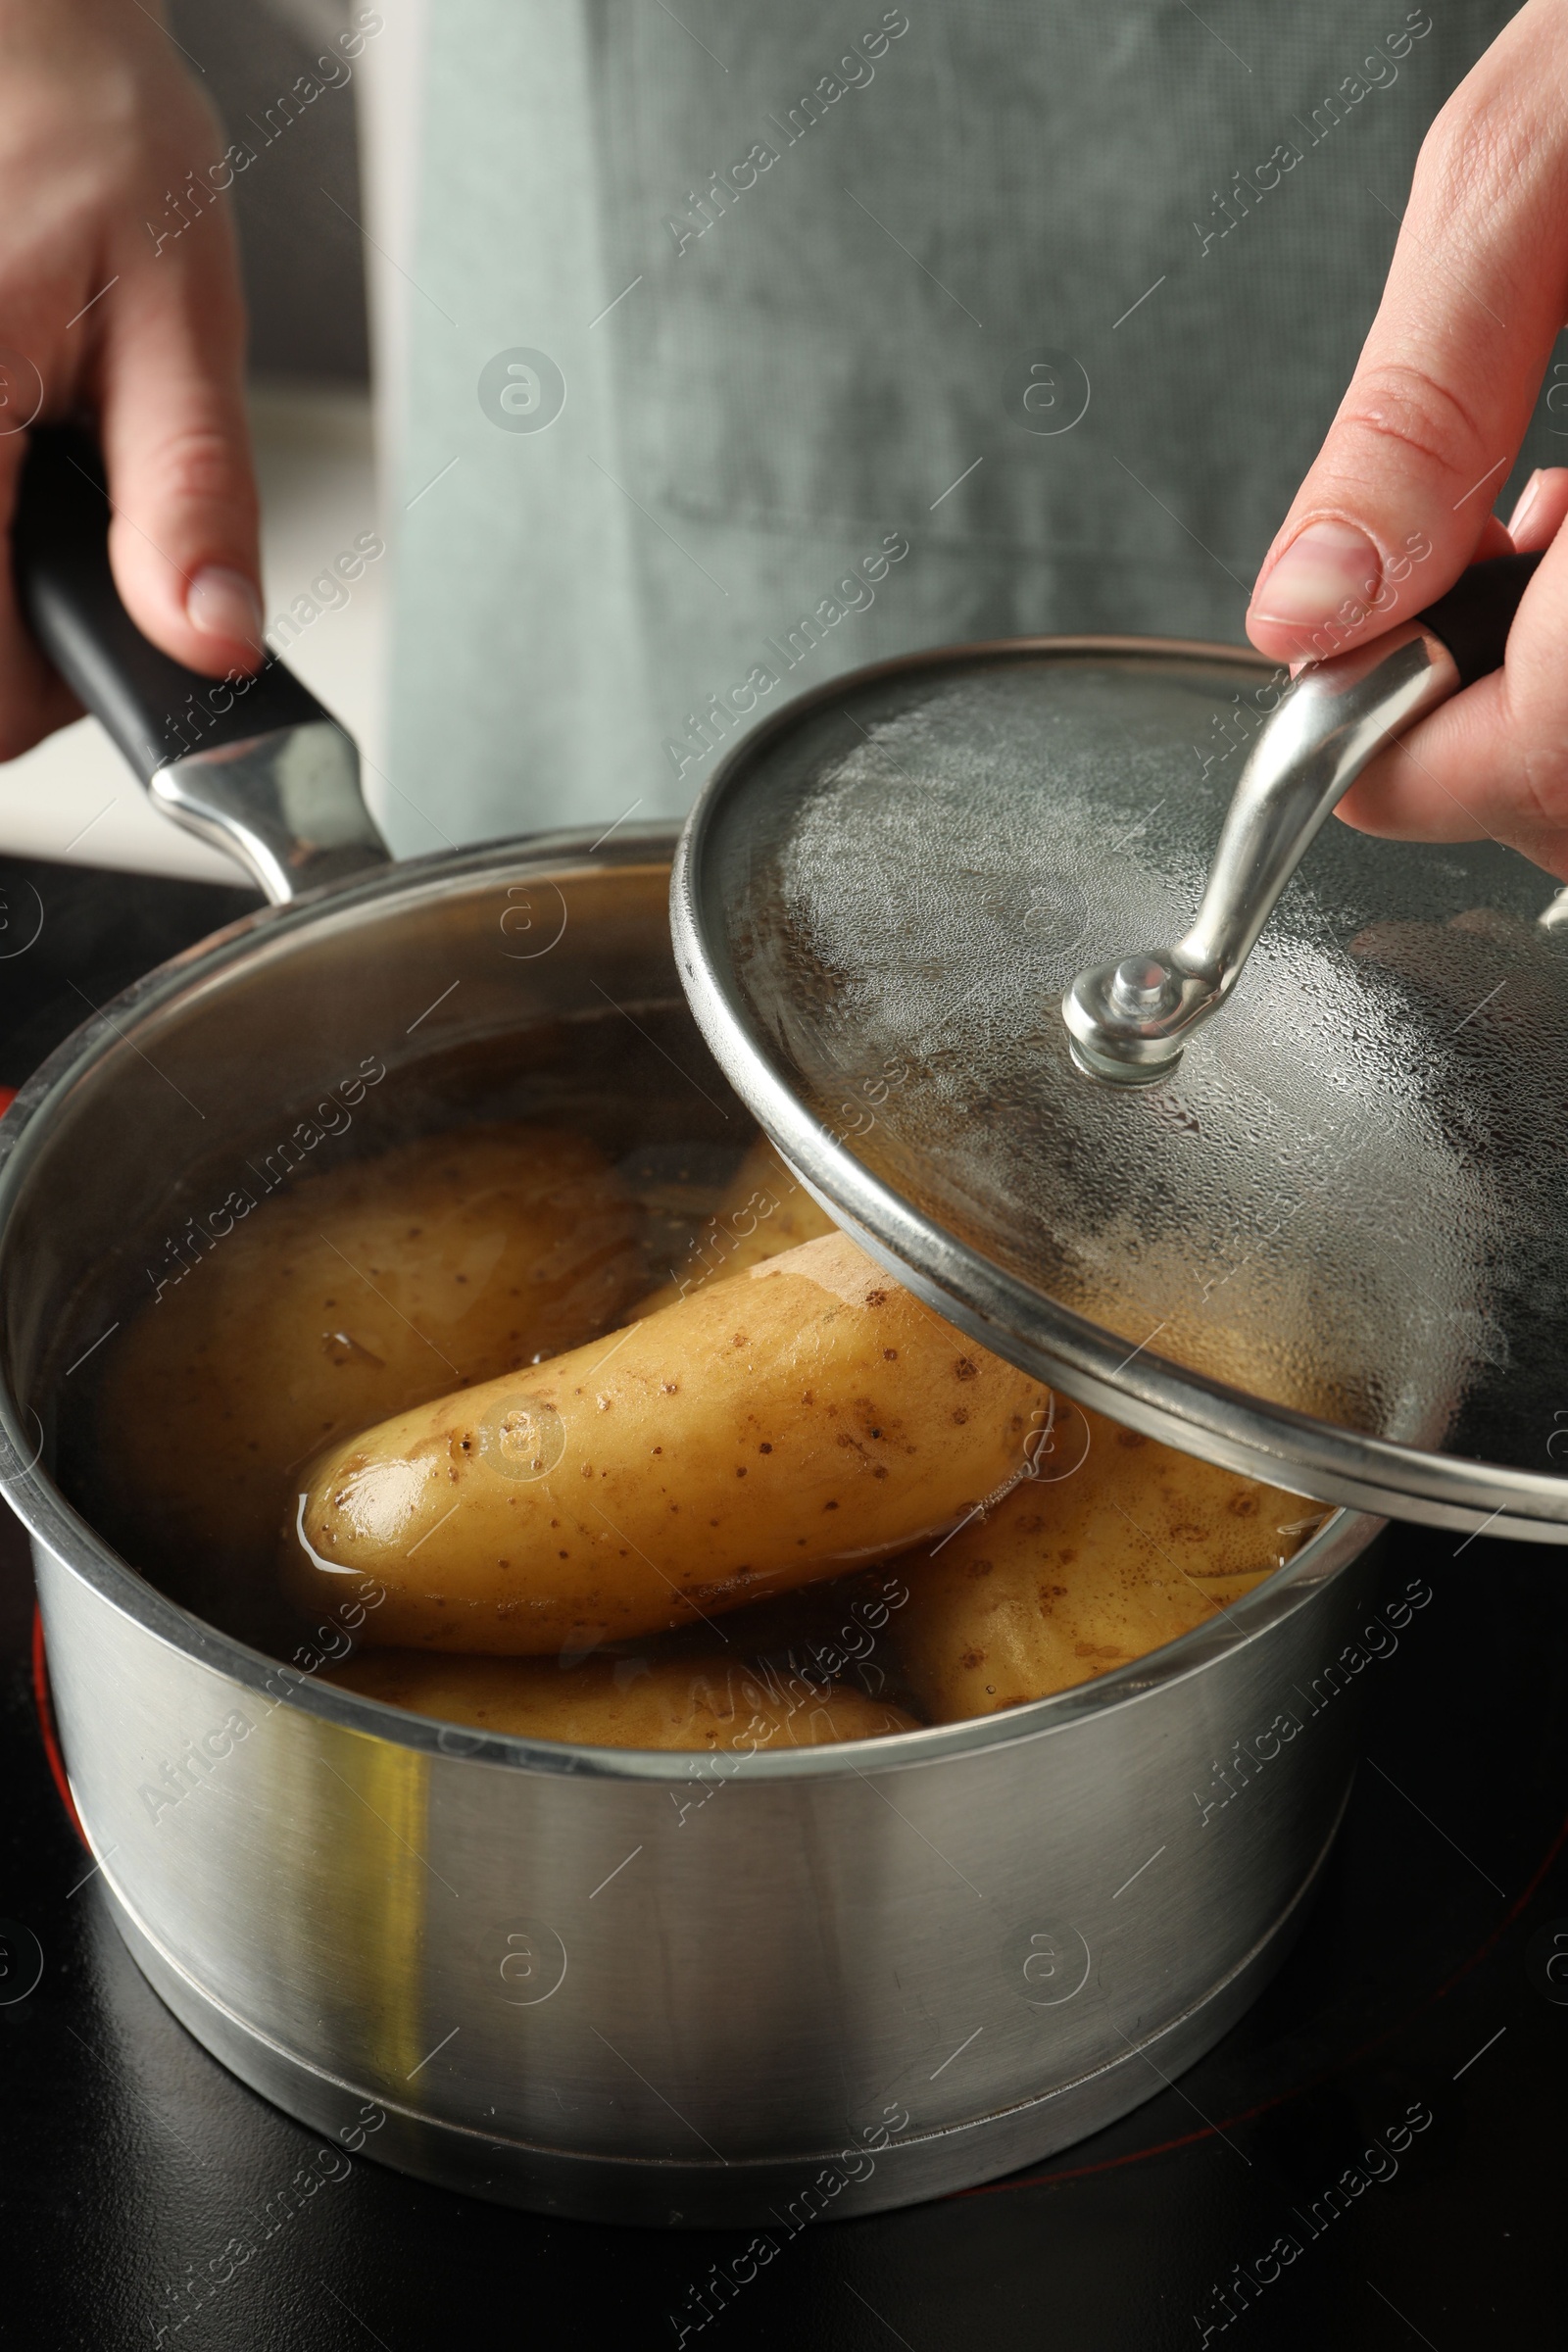
[[[943,1324],[679,1016],[548,1058],[371,1056],[94,1284],[61,1477],[197,1616],[489,1731],[816,1745],[1103,1675],[1319,1524]]]

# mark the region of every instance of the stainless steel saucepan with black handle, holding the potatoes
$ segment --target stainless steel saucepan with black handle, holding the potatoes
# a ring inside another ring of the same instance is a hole
[[[1133,2107],[1302,1919],[1356,1757],[1380,1519],[1333,1515],[1225,1618],[1088,1686],[712,1759],[487,1738],[334,1689],[179,1606],[85,1517],[82,1350],[115,1345],[167,1247],[221,1247],[244,1164],[343,1105],[341,1080],[383,1073],[348,1127],[315,1122],[315,1164],[597,1077],[628,1145],[738,1143],[745,1120],[682,997],[670,833],[393,866],[348,739],[280,666],[214,691],[134,635],[80,463],[33,461],[35,626],[160,807],[273,901],[85,1023],[0,1124],[0,1475],[75,1804],[148,1980],[341,2145],[597,2220],[780,2241]]]

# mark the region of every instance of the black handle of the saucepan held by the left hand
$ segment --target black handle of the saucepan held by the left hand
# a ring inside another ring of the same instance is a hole
[[[120,602],[108,513],[92,440],[71,426],[35,426],[12,527],[21,607],[54,668],[143,783],[195,746],[221,750],[275,727],[331,720],[275,656],[249,680],[221,680],[160,654]]]

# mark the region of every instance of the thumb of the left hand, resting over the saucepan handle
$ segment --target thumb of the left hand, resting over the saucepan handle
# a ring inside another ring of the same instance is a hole
[[[115,586],[153,644],[207,675],[266,656],[242,339],[228,275],[169,270],[106,322],[101,362]]]

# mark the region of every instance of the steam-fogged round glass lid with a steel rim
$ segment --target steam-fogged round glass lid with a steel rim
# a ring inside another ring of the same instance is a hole
[[[1547,875],[1326,826],[1168,1073],[1074,1063],[1063,993],[1192,922],[1272,677],[1023,640],[835,680],[691,814],[686,993],[811,1190],[985,1345],[1307,1496],[1568,1541]]]

